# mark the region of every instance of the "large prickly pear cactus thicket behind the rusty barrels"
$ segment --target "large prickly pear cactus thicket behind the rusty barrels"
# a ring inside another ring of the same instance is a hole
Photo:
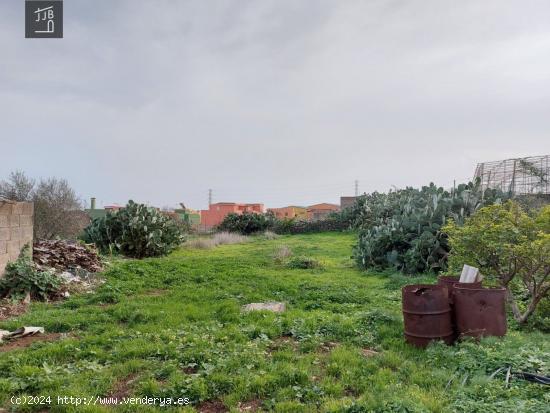
[[[479,182],[448,192],[434,184],[388,194],[360,197],[352,207],[351,226],[359,229],[354,248],[363,268],[397,269],[417,274],[447,268],[449,245],[441,230],[449,218],[458,223],[480,207],[500,202],[499,191],[481,193]]]

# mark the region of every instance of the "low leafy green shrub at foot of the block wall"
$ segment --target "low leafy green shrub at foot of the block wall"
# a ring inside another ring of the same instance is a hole
[[[61,280],[53,271],[39,271],[35,268],[30,247],[25,245],[14,262],[6,266],[0,278],[0,297],[21,300],[30,294],[32,299],[48,300],[59,295]]]

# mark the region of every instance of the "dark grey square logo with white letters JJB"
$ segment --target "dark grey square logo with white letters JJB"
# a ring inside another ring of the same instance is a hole
[[[62,38],[63,0],[26,0],[25,37]]]

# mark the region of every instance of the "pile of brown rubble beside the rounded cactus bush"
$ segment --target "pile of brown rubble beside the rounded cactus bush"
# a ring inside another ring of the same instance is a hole
[[[38,268],[61,271],[99,272],[101,260],[93,247],[67,240],[40,240],[33,245],[33,261]]]

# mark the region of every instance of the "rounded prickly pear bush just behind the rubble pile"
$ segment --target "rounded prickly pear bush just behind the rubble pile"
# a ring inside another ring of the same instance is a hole
[[[183,230],[173,219],[129,201],[126,207],[96,218],[85,230],[84,240],[103,253],[143,258],[166,255],[184,241]]]

